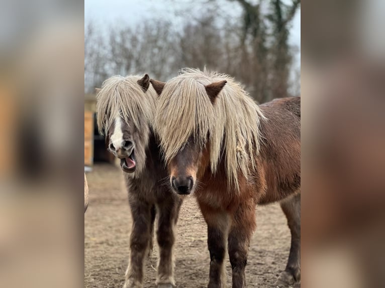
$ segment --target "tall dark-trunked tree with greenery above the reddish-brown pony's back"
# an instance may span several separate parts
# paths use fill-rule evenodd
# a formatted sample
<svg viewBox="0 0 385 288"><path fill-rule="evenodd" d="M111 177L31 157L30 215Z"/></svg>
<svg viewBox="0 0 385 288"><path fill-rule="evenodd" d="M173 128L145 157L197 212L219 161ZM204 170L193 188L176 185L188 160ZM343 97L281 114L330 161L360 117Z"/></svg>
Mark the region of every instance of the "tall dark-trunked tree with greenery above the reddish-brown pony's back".
<svg viewBox="0 0 385 288"><path fill-rule="evenodd" d="M231 1L239 3L243 9L239 50L241 79L251 87L258 102L287 96L292 69L289 26L300 1L295 0L287 6L280 0L271 0L268 14L261 11L264 1L255 4L246 0Z"/></svg>

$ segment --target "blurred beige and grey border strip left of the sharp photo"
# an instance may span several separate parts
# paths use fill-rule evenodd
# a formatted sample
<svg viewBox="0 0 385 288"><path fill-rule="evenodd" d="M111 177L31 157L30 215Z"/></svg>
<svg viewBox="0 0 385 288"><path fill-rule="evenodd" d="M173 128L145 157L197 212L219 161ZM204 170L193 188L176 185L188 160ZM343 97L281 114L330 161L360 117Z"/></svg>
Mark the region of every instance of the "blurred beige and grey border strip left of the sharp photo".
<svg viewBox="0 0 385 288"><path fill-rule="evenodd" d="M81 286L83 3L0 6L0 287Z"/></svg>

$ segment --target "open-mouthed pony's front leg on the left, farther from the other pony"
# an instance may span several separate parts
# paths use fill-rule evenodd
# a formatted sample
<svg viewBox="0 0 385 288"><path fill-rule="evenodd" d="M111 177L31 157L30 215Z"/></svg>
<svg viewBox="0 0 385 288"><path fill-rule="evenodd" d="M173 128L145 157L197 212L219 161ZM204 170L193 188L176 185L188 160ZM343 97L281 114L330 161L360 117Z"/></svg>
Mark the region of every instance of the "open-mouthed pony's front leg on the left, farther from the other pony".
<svg viewBox="0 0 385 288"><path fill-rule="evenodd" d="M151 205L135 197L129 197L129 203L133 224L130 237L130 261L124 288L140 288L143 282L144 259L151 238Z"/></svg>

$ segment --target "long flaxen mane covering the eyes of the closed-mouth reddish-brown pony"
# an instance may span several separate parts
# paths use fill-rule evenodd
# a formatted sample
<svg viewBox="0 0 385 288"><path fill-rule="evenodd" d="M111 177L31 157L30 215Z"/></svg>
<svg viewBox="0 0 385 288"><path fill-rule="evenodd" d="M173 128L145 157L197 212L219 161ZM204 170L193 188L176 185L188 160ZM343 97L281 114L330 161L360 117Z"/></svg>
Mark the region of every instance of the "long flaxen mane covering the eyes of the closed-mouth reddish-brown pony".
<svg viewBox="0 0 385 288"><path fill-rule="evenodd" d="M222 80L227 83L212 104L205 85ZM259 122L264 116L232 77L183 69L164 86L157 111L154 126L166 161L184 147L191 135L202 147L210 135L211 170L216 172L223 151L229 185L238 188L238 171L247 177L249 168L254 167L260 148Z"/></svg>

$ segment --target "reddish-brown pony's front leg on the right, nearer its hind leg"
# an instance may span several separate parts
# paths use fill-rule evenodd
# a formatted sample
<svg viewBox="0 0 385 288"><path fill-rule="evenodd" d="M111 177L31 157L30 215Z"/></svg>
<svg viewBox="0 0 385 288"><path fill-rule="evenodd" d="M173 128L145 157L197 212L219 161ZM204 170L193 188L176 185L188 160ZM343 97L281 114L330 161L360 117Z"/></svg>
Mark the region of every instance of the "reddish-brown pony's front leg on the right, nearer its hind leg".
<svg viewBox="0 0 385 288"><path fill-rule="evenodd" d="M245 267L255 221L255 207L250 202L240 204L233 215L228 238L233 288L246 287Z"/></svg>

